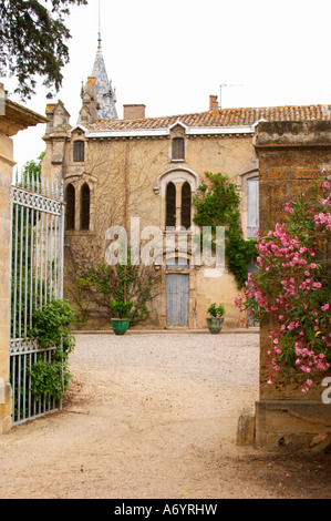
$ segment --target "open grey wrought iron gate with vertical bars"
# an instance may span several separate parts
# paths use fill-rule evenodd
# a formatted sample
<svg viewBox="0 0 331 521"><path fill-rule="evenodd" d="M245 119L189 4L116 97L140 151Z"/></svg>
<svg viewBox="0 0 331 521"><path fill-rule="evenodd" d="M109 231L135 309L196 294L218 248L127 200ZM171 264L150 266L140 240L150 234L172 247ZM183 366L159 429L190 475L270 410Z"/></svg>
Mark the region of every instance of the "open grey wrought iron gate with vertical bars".
<svg viewBox="0 0 331 521"><path fill-rule="evenodd" d="M34 309L63 297L63 184L24 178L12 184L10 382L12 423L22 423L61 408L54 399L31 391L30 371L50 360L56 347L41 349L29 338Z"/></svg>

